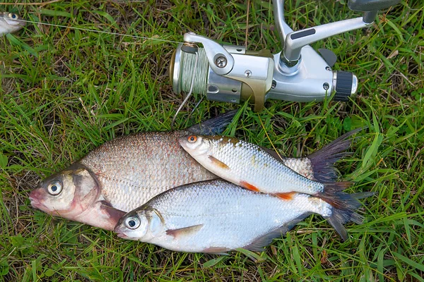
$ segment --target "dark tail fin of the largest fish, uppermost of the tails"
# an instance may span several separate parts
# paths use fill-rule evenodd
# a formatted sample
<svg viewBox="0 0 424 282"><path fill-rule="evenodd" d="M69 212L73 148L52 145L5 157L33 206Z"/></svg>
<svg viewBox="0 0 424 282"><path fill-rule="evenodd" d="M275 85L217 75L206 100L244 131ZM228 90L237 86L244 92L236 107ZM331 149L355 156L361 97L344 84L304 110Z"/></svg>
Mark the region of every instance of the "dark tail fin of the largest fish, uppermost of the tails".
<svg viewBox="0 0 424 282"><path fill-rule="evenodd" d="M348 133L341 135L341 137L338 137L329 145L326 145L322 149L319 149L317 152L307 156L307 158L311 161L312 171L314 171L314 178L317 181L324 183L337 179L334 163L347 154L351 154L348 152L343 152L352 144L352 140L349 139L349 137L355 133L358 133L358 131L362 129L363 128L357 128L355 130L351 130Z"/></svg>

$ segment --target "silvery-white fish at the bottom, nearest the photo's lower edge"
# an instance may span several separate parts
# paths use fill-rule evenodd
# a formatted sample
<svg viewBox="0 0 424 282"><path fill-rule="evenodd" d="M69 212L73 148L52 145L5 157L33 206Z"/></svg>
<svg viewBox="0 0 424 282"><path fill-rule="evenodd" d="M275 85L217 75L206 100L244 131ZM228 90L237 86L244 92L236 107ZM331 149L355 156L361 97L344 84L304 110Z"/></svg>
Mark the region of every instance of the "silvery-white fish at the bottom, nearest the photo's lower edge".
<svg viewBox="0 0 424 282"><path fill-rule="evenodd" d="M341 195L343 207L294 192L290 200L247 190L222 179L167 190L119 219L119 238L139 240L168 250L222 254L244 248L262 251L310 214L327 219L343 239L343 224L362 223L355 209L367 193Z"/></svg>

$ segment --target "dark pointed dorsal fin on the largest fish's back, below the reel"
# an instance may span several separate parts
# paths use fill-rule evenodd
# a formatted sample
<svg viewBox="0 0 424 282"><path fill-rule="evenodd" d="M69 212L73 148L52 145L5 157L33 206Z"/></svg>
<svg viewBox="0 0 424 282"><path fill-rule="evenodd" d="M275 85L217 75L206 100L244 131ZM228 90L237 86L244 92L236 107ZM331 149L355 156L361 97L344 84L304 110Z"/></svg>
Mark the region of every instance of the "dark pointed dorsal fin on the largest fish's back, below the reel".
<svg viewBox="0 0 424 282"><path fill-rule="evenodd" d="M238 110L228 111L225 114L216 116L215 118L210 118L207 121L203 121L199 124L193 125L188 128L191 133L197 135L218 135L223 133L227 125L229 125L237 114Z"/></svg>

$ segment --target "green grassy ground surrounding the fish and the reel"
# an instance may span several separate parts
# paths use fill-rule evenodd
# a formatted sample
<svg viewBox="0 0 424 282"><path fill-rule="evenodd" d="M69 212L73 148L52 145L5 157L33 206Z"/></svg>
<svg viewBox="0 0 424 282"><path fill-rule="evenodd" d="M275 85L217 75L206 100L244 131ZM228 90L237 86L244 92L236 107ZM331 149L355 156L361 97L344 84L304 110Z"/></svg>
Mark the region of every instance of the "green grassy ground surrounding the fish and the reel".
<svg viewBox="0 0 424 282"><path fill-rule="evenodd" d="M20 2L29 2L27 0ZM297 30L360 16L346 1L286 1ZM58 1L3 6L30 20L182 41L192 30L248 49L280 50L269 1ZM248 13L247 13L248 11ZM229 135L302 156L351 128L351 157L338 165L365 200L366 222L340 238L311 216L250 259L177 253L30 207L40 178L120 135L169 130L182 97L167 68L176 44L45 25L0 38L0 280L3 281L424 281L424 31L422 1L402 1L372 28L317 42L336 70L360 79L346 104L270 101L252 105L191 99L184 128L229 109ZM266 137L269 135L269 139Z"/></svg>

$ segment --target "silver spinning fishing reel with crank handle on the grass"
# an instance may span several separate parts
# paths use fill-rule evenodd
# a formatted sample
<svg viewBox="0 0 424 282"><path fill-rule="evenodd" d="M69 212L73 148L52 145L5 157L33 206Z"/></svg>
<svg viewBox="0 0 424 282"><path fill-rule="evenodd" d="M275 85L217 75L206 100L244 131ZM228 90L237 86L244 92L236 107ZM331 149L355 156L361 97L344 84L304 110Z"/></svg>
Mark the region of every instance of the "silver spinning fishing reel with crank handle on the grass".
<svg viewBox="0 0 424 282"><path fill-rule="evenodd" d="M261 111L267 99L322 101L335 92L336 101L348 101L358 89L358 78L348 71L333 71L337 59L333 51L319 49L318 54L309 44L367 27L379 10L400 0L349 0L348 7L364 12L363 17L298 31L285 23L283 2L273 0L273 16L283 47L277 54L220 45L194 32L184 34L184 44L179 44L171 60L174 92L205 94L209 100L237 104L250 99L254 111Z"/></svg>

